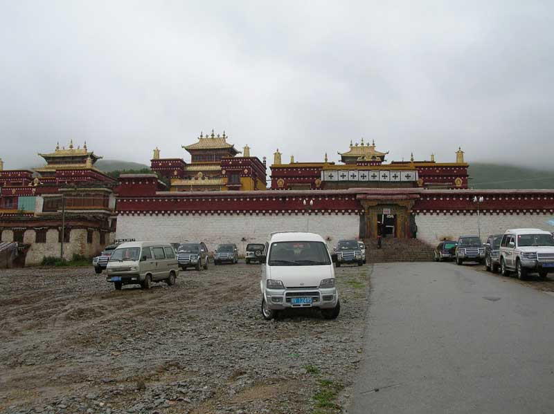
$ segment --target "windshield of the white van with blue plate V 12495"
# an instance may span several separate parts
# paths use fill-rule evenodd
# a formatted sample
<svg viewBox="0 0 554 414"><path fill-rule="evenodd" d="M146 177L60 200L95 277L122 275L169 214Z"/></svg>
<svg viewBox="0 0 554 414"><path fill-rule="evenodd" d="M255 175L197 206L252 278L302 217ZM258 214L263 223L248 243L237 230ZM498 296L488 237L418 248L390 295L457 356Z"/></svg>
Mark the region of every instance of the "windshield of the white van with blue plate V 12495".
<svg viewBox="0 0 554 414"><path fill-rule="evenodd" d="M319 241L283 241L271 244L270 266L330 265L331 259L325 243Z"/></svg>

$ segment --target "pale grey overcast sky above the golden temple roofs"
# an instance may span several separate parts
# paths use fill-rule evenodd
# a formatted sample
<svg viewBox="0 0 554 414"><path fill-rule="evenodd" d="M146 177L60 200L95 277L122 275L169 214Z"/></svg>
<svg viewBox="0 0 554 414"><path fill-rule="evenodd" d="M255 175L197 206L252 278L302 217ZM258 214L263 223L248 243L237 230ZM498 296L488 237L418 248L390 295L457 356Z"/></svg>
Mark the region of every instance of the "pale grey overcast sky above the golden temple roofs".
<svg viewBox="0 0 554 414"><path fill-rule="evenodd" d="M269 163L364 137L389 161L551 166L554 3L457 3L0 0L0 158L73 138L188 161L215 129Z"/></svg>

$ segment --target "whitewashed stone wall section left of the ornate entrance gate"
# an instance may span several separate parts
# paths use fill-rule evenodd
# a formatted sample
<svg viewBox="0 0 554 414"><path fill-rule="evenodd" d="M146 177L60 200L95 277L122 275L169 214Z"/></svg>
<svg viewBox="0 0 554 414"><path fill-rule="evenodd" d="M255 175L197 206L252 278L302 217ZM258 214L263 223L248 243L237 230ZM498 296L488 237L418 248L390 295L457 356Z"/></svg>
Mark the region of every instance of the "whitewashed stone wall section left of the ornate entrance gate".
<svg viewBox="0 0 554 414"><path fill-rule="evenodd" d="M204 241L213 251L220 243L236 243L240 254L248 243L264 242L271 232L305 232L307 216L118 216L116 238L137 241ZM309 218L310 232L334 247L341 238L358 238L359 216L317 215ZM242 238L245 240L242 241Z"/></svg>

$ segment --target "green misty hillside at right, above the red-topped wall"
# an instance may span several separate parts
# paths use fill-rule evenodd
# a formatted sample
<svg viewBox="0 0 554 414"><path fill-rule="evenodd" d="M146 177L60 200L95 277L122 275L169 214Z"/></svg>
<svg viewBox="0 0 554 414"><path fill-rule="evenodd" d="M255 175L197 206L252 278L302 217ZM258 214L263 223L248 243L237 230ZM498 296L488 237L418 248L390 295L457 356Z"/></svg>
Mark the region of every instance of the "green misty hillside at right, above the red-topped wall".
<svg viewBox="0 0 554 414"><path fill-rule="evenodd" d="M470 162L470 188L554 189L554 169Z"/></svg>

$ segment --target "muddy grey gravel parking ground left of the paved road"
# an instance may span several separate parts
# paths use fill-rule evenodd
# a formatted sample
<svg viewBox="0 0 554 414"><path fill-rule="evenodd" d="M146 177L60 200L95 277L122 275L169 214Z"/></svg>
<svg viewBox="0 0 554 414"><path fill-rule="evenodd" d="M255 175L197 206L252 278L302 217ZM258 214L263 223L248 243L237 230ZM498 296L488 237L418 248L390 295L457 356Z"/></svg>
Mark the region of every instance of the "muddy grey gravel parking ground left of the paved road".
<svg viewBox="0 0 554 414"><path fill-rule="evenodd" d="M341 314L264 321L258 265L116 291L91 267L0 271L2 413L339 413L361 359L370 265Z"/></svg>

